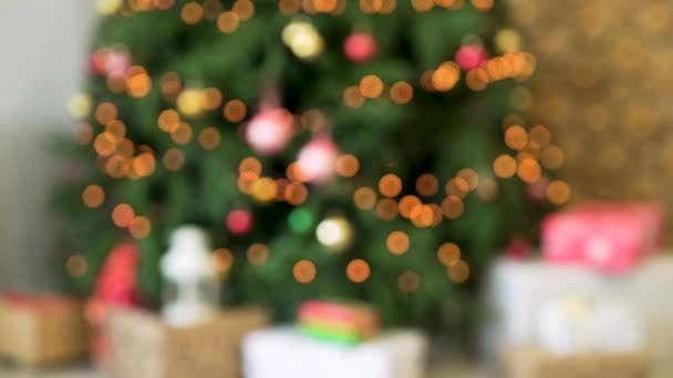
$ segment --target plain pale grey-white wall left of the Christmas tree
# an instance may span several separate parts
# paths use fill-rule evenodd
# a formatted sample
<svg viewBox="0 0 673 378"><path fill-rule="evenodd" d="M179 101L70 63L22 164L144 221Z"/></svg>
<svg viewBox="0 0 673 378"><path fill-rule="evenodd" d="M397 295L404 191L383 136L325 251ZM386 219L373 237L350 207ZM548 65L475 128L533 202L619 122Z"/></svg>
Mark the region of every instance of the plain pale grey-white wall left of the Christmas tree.
<svg viewBox="0 0 673 378"><path fill-rule="evenodd" d="M0 1L0 290L45 286L53 274L45 200L48 132L70 127L93 0Z"/></svg>

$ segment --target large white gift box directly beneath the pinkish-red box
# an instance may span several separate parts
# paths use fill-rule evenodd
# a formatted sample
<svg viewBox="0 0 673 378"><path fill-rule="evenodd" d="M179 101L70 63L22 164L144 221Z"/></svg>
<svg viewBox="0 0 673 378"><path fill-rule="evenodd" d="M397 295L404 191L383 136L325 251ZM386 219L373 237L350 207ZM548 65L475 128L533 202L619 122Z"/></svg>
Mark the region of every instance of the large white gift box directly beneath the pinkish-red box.
<svg viewBox="0 0 673 378"><path fill-rule="evenodd" d="M672 287L673 255L663 252L621 275L543 261L500 260L487 280L493 322L485 327L484 350L494 356L504 346L536 344L536 319L546 302L583 297L620 301L635 309L644 324L648 351L659 361L670 360Z"/></svg>

